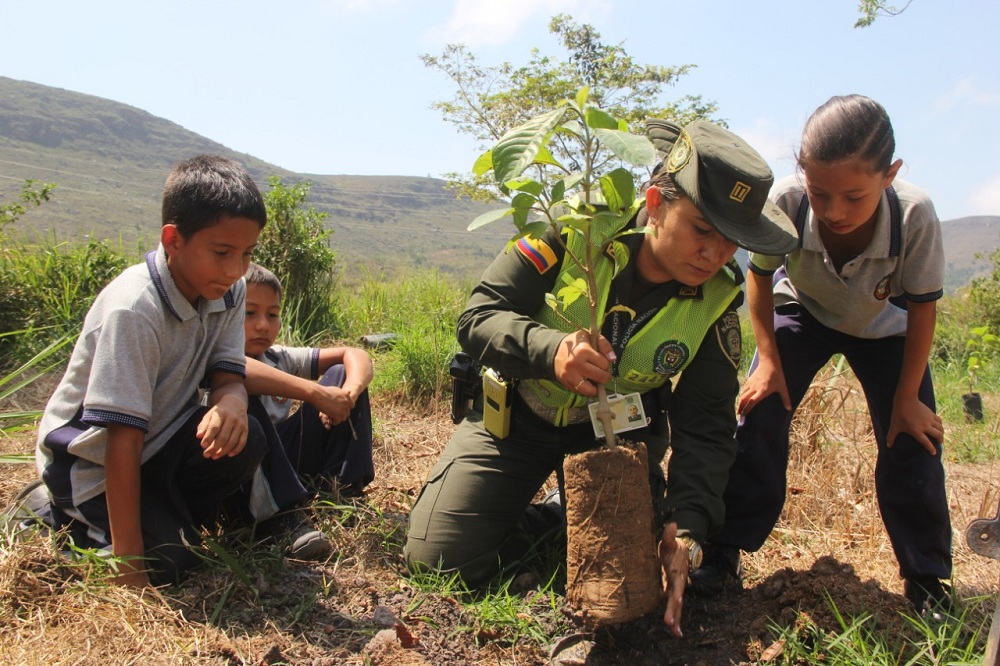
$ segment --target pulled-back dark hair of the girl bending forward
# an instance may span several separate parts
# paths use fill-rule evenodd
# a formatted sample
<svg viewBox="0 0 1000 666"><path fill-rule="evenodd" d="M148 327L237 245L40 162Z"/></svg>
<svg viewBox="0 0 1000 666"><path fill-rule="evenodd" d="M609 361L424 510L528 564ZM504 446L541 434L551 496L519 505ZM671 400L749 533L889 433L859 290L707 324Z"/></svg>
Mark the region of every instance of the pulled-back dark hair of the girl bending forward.
<svg viewBox="0 0 1000 666"><path fill-rule="evenodd" d="M896 138L885 108L864 95L831 97L813 111L802 130L798 162L831 164L856 158L884 173L892 164Z"/></svg>

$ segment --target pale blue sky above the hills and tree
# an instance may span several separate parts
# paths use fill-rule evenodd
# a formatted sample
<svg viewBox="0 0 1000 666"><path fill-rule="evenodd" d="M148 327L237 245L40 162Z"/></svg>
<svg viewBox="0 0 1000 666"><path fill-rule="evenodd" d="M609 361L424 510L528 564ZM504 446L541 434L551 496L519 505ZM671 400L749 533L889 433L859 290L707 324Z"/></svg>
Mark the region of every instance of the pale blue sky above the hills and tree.
<svg viewBox="0 0 1000 666"><path fill-rule="evenodd" d="M0 76L131 104L293 171L440 176L480 147L430 108L454 91L420 54L562 56L557 13L639 62L697 65L665 99L715 100L778 176L813 109L857 92L886 106L902 177L942 219L1000 215L995 0L912 0L866 29L855 0L8 1Z"/></svg>

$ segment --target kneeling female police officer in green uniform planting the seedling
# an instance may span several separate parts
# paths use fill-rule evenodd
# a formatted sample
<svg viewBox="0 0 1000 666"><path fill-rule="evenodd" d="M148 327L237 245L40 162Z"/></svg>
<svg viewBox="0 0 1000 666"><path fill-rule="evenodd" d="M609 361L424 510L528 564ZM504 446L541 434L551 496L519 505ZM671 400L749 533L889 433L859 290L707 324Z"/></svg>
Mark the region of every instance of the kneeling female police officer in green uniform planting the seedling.
<svg viewBox="0 0 1000 666"><path fill-rule="evenodd" d="M739 137L705 121L680 129L652 120L647 131L666 159L645 208L626 225L651 232L623 238L630 260L613 280L598 268L603 302L627 310L606 318L596 349L545 303L563 285L560 275L576 270L562 261L553 231L501 254L473 290L459 342L516 381L509 434L491 434L469 412L413 506L405 555L411 570L458 571L469 584L512 563L529 545L520 528L539 488L563 456L598 445L587 409L596 385L637 392L649 422L632 438L647 443L654 502L668 521L660 547L670 588L665 621L679 635L690 557L722 524L735 456L742 274L730 260L737 246L782 254L797 237L767 200L771 170Z"/></svg>

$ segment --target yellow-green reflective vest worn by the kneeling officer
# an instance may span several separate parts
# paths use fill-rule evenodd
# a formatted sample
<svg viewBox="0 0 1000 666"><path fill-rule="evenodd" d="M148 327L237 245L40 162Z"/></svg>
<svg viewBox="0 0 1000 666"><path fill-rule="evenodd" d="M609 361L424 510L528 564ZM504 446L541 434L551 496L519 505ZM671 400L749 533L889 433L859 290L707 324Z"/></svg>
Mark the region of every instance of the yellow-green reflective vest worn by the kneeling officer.
<svg viewBox="0 0 1000 666"><path fill-rule="evenodd" d="M571 252L583 256L584 239L581 234L568 234L566 242ZM634 260L633 257L631 261ZM607 311L613 269L614 261L609 251L601 252L595 270L598 312ZM574 280L584 278L583 271L564 257L552 289L557 300L557 292L566 286L567 276ZM645 393L670 381L691 362L709 327L722 316L739 291L727 268L720 270L700 288L682 288L680 294L671 298L628 339L624 351L618 353L618 377L611 386L622 394ZM578 298L561 314L579 327L571 326L548 305L542 306L532 319L567 333L589 328L590 312L586 297ZM630 316L624 312L620 314L620 319L627 326L631 322ZM589 400L549 379L526 379L521 384L522 390L531 391L542 404L555 411L554 425L557 426L567 425L569 410L583 407Z"/></svg>

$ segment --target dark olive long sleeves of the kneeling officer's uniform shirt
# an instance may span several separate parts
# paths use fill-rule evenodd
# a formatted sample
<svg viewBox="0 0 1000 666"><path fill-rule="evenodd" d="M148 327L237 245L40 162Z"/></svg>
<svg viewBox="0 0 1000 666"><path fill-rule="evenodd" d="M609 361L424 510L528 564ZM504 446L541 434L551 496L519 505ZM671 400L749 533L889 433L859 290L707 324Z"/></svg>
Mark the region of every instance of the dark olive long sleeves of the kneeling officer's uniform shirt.
<svg viewBox="0 0 1000 666"><path fill-rule="evenodd" d="M643 236L627 238L633 245L630 256L634 261ZM543 240L557 257L554 265L540 272L519 252L512 250L499 256L483 274L459 317L462 348L505 377L555 380L556 350L566 333L539 324L531 315L539 311L545 295L552 291L563 249L554 232ZM659 288L666 290L670 298L677 298L683 286L668 282ZM704 541L725 518L722 493L736 455L740 343L735 308L741 301L742 294L709 329L690 365L675 378L669 400L657 403L646 399L650 396L643 400L647 417L654 420L651 432L669 432L672 454L667 469L666 516L677 523L681 533L697 541ZM650 368L652 365L650 359ZM613 383L609 388L614 389ZM667 416L656 407L651 411L651 404L666 409Z"/></svg>

